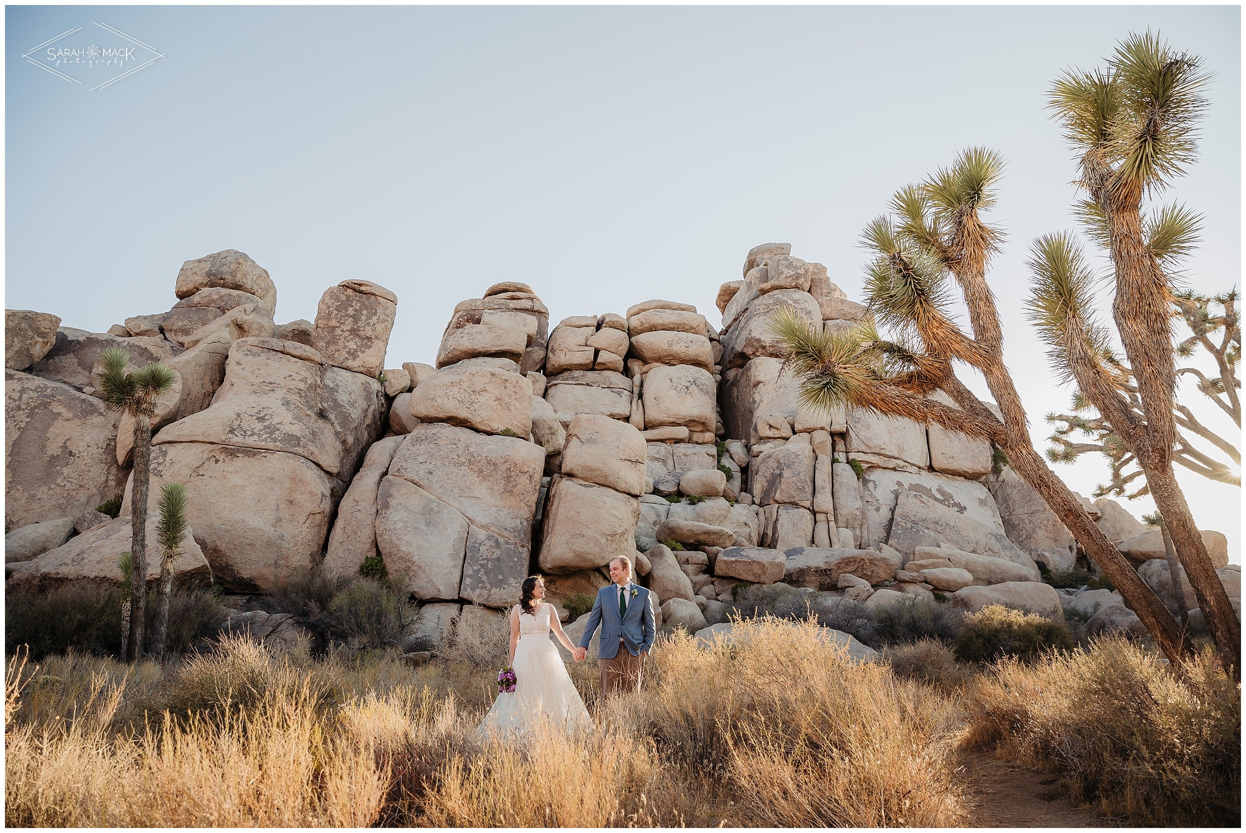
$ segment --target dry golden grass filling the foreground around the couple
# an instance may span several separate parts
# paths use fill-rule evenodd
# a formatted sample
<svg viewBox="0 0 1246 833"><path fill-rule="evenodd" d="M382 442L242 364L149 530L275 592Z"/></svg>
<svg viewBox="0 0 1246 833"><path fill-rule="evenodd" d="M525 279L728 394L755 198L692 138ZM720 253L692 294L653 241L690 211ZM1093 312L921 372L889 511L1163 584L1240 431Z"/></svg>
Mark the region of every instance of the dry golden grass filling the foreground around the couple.
<svg viewBox="0 0 1246 833"><path fill-rule="evenodd" d="M956 772L963 681L930 685L887 664L852 662L807 623L763 619L739 624L735 633L734 642L708 650L682 634L664 638L647 666L644 690L604 702L596 692L596 666L572 664L598 732L540 731L525 742L475 736L496 665L487 651L497 649L485 644L460 642L461 652L419 669L394 652L313 657L303 646L274 656L242 638L163 667L77 655L37 666L15 660L5 680L5 822L943 827L971 821ZM912 649L907 659L897 652L892 661L916 666L922 656L931 661L932 650ZM943 654L933 659L942 662ZM1206 669L1201 694L1191 694L1195 689L1172 682L1149 661L1099 646L1080 659L996 666L981 684L969 684L973 737L1053 766L1062 742L1090 752L1101 742L1085 726L1070 725L1077 700L1110 712L1125 692L1149 705L1123 708L1125 717L1110 715L1115 722L1098 712L1079 720L1124 731L1128 716L1149 715L1175 740L1172 748L1154 751L1144 776L1204 787L1207 776L1194 768L1219 758L1181 757L1176 746L1207 747L1207 738L1190 735L1191 721L1219 726L1231 699ZM1140 689L1120 687L1121 664L1124 679L1144 681ZM1100 667L1098 677L1093 666ZM1080 689L1074 676L1083 680ZM1093 699L1091 684L1100 686L1094 691L1116 691ZM1114 760L1109 751L1099 755ZM1138 777L1138 762L1130 766L1113 777Z"/></svg>

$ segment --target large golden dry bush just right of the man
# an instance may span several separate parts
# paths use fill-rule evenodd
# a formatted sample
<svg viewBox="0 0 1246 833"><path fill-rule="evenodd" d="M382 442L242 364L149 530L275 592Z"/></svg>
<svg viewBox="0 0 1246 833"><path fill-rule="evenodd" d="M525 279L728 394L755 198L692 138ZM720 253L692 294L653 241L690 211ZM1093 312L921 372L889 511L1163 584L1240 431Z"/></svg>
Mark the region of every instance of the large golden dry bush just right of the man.
<svg viewBox="0 0 1246 833"><path fill-rule="evenodd" d="M652 664L643 695L609 701L607 713L652 737L672 765L731 787L735 803L720 811L728 827L963 818L954 704L885 665L852 661L812 623L739 623L709 650L674 634Z"/></svg>

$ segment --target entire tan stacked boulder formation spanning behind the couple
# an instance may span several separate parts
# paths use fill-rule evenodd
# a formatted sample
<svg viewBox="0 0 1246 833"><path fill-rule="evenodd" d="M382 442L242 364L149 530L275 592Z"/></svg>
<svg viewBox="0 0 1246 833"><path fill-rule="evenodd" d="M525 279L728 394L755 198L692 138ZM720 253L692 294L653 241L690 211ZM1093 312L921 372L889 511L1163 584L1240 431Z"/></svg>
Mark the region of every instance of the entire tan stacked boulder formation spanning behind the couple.
<svg viewBox="0 0 1246 833"><path fill-rule="evenodd" d="M272 593L379 559L420 605L419 650L496 616L536 570L558 605L591 596L616 555L635 562L663 621L689 630L721 621L741 581L868 606L1077 609L1093 633L1139 628L1118 594L1039 581L1084 562L988 443L797 407L773 314L837 331L866 309L787 244L753 249L743 279L723 285L721 332L667 300L549 331L541 299L508 281L455 308L431 364L391 369L397 299L376 284L344 280L314 322L275 325L268 273L227 250L187 261L174 293L169 311L107 334L6 311L11 583L121 578L130 498L116 519L95 511L130 491L132 422L96 396L98 354L118 346L136 366L176 371L152 421L148 517L161 484L188 484L182 577ZM1166 594L1159 532L1113 501L1084 503ZM1225 537L1204 534L1240 598Z"/></svg>

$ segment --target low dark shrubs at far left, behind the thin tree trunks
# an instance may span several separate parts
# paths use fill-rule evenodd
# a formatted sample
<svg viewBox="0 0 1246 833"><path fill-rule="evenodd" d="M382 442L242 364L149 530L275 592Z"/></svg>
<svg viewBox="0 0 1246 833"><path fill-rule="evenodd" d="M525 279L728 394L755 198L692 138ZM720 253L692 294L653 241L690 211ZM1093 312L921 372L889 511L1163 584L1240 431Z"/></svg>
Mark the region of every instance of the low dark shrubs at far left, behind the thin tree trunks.
<svg viewBox="0 0 1246 833"><path fill-rule="evenodd" d="M121 654L121 593L96 583L70 583L46 593L5 591L5 652L29 646L30 659L75 650ZM156 589L147 593L146 629L156 623ZM173 590L169 596L166 650L201 647L227 618L219 596L207 589Z"/></svg>

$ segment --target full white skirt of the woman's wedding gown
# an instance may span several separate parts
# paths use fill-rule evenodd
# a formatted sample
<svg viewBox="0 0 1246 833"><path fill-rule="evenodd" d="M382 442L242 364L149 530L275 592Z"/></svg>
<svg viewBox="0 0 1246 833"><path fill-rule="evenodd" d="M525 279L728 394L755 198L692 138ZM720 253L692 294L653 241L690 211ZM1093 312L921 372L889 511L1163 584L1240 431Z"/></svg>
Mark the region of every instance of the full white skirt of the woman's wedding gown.
<svg viewBox="0 0 1246 833"><path fill-rule="evenodd" d="M477 733L522 733L538 723L567 732L594 731L593 718L548 636L521 636L512 667L515 691L497 695Z"/></svg>

